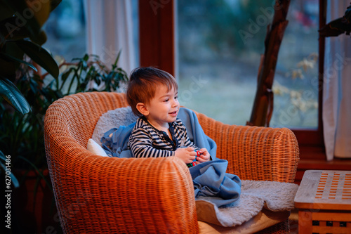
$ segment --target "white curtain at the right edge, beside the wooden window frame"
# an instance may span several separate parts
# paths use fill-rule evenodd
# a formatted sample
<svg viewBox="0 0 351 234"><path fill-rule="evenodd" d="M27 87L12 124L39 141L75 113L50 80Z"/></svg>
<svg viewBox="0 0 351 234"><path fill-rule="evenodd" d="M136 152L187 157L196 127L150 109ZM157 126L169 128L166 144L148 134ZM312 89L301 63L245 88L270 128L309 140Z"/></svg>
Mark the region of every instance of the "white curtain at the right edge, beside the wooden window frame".
<svg viewBox="0 0 351 234"><path fill-rule="evenodd" d="M328 0L326 22L345 14L350 0ZM326 159L351 158L351 37L327 37L324 59L323 128Z"/></svg>

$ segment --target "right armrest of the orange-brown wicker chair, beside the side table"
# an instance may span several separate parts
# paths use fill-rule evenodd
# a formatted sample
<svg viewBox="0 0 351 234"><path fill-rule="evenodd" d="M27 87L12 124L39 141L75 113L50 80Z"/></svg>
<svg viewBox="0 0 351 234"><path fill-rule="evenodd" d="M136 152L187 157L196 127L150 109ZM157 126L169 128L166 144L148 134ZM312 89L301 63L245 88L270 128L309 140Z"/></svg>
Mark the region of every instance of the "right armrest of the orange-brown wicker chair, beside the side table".
<svg viewBox="0 0 351 234"><path fill-rule="evenodd" d="M290 129L223 124L201 113L197 117L217 143L216 156L229 162L228 173L247 180L295 180L299 150Z"/></svg>

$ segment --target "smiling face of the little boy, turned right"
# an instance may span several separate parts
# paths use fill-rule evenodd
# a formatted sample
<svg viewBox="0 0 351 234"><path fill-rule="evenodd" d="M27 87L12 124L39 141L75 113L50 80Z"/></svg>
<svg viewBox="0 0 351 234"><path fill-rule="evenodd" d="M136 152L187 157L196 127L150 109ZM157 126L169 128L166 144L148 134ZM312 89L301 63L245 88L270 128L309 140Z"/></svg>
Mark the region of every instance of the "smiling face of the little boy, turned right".
<svg viewBox="0 0 351 234"><path fill-rule="evenodd" d="M167 87L161 85L156 90L154 98L145 106L148 114L145 117L150 124L159 130L168 129L168 123L176 121L178 115L180 106L178 90L173 88L167 91Z"/></svg>

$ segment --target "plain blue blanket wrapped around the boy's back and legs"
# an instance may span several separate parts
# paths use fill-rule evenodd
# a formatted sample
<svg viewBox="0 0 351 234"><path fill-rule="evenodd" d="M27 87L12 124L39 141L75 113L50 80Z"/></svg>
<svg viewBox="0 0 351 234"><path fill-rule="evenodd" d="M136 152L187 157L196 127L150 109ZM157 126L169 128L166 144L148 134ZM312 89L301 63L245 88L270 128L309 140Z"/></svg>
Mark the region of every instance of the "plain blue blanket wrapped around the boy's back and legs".
<svg viewBox="0 0 351 234"><path fill-rule="evenodd" d="M194 183L195 198L208 200L218 207L232 204L239 199L241 181L238 176L227 174L228 162L216 158L216 142L206 136L201 128L197 115L187 108L180 108L178 118L187 129L187 135L199 148L206 148L212 161L203 162L190 168ZM111 157L133 157L128 150L128 139L133 130L133 124L110 129L101 138L102 148Z"/></svg>

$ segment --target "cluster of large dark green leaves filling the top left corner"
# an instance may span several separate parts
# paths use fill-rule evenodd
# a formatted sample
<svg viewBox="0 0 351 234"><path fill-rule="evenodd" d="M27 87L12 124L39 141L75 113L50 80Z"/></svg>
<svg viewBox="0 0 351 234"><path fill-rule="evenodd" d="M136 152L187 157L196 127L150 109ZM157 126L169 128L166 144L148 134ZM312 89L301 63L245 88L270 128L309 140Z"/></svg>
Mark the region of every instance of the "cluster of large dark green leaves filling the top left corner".
<svg viewBox="0 0 351 234"><path fill-rule="evenodd" d="M41 27L60 2L0 0L0 96L22 114L30 111L29 104L11 81L18 79L15 70L21 63L37 70L32 63L23 59L23 54L58 78L57 63L39 45L46 41L46 34Z"/></svg>

